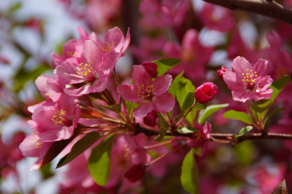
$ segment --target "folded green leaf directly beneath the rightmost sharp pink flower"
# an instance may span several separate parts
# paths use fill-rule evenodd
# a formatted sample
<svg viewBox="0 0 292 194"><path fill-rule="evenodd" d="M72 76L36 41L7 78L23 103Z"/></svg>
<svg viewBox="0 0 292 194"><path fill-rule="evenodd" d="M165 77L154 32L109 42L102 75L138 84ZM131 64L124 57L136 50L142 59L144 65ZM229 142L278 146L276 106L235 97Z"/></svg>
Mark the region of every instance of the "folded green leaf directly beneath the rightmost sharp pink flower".
<svg viewBox="0 0 292 194"><path fill-rule="evenodd" d="M258 102L252 103L250 106L251 112L256 115L259 120L265 118L265 115L272 105L273 99L261 99Z"/></svg>

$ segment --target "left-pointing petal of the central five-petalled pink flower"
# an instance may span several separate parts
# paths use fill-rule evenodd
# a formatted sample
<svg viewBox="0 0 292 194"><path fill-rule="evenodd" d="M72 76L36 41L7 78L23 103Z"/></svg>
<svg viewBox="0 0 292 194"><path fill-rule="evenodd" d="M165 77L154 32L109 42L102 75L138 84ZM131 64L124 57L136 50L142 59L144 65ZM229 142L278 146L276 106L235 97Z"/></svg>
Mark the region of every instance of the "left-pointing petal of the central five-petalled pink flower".
<svg viewBox="0 0 292 194"><path fill-rule="evenodd" d="M135 102L137 104L140 104L143 102L142 95L138 97L139 93L138 90L134 88L134 85L127 86L127 85L121 85L117 87L117 92L121 97L129 102ZM152 110L151 110L152 111Z"/></svg>

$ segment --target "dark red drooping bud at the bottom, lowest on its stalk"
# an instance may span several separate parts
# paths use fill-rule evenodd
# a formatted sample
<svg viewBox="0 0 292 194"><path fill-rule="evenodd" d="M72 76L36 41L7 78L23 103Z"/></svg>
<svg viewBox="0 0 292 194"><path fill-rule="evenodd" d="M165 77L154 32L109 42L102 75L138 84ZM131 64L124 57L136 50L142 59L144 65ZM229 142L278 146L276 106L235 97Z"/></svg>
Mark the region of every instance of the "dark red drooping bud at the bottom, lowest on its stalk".
<svg viewBox="0 0 292 194"><path fill-rule="evenodd" d="M138 180L141 180L146 171L146 165L145 164L137 164L129 168L127 172L125 172L124 177L128 179L131 183L135 183Z"/></svg>

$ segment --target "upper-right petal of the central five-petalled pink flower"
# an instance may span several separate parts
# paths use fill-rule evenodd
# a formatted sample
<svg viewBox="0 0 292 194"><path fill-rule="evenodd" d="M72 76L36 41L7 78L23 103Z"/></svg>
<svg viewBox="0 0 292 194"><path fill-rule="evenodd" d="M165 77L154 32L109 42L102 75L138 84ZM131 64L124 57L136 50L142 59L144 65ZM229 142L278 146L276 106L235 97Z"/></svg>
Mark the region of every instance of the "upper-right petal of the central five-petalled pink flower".
<svg viewBox="0 0 292 194"><path fill-rule="evenodd" d="M163 76L158 76L153 83L153 89L154 92L153 94L156 96L160 96L167 92L169 86L171 85L172 81L172 76L171 75L163 75Z"/></svg>

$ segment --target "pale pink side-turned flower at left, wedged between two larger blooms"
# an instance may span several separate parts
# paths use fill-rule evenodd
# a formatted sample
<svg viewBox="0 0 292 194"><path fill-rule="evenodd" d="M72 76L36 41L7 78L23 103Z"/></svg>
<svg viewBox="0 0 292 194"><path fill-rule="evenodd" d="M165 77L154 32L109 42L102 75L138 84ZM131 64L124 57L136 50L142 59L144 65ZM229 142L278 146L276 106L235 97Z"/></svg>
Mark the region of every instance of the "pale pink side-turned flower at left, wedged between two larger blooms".
<svg viewBox="0 0 292 194"><path fill-rule="evenodd" d="M55 106L59 97L63 93L62 83L48 75L39 76L35 83L42 97L44 97L46 100L39 104L29 106L27 108L28 111L33 113L34 109L41 106Z"/></svg>

